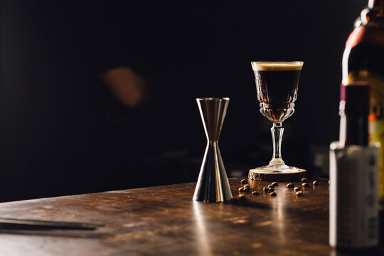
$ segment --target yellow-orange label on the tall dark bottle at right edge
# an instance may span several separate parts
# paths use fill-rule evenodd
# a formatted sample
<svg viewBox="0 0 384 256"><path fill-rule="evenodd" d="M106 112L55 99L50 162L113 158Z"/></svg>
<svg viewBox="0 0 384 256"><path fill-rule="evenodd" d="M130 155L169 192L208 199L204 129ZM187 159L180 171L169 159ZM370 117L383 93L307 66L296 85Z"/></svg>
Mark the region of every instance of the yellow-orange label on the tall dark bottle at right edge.
<svg viewBox="0 0 384 256"><path fill-rule="evenodd" d="M379 200L384 209L384 77L367 70L348 73L348 82L366 81L370 85L369 140L380 142Z"/></svg>

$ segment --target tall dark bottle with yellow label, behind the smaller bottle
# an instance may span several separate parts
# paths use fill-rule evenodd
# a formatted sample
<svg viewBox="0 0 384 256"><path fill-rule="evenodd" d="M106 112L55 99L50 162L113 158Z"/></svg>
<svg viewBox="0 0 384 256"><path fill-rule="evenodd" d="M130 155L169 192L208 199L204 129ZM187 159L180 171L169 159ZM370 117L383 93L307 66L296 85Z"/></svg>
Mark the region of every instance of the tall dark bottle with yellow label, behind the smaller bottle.
<svg viewBox="0 0 384 256"><path fill-rule="evenodd" d="M370 0L346 42L343 85L366 81L370 85L370 142L384 146L384 0ZM384 208L384 151L379 153L379 197Z"/></svg>

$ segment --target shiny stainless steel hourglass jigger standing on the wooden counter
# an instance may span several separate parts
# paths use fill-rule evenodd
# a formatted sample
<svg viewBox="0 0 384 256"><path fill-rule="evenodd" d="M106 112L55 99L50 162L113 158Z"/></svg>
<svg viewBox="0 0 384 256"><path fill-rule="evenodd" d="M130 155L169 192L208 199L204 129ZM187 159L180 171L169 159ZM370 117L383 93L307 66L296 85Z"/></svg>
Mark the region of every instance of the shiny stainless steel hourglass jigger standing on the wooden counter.
<svg viewBox="0 0 384 256"><path fill-rule="evenodd" d="M208 143L193 200L204 202L231 200L232 193L230 193L230 185L221 159L220 149L218 148L218 138L220 137L230 99L227 97L198 98L196 101Z"/></svg>

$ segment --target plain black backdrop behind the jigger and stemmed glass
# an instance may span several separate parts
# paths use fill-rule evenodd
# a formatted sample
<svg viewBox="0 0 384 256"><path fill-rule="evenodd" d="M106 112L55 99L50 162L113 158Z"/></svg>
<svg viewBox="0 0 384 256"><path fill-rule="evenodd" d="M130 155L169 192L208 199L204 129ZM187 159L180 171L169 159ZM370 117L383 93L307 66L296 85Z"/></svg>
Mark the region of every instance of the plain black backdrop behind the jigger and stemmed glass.
<svg viewBox="0 0 384 256"><path fill-rule="evenodd" d="M282 154L326 176L343 47L366 2L2 1L1 201L196 181L196 97L230 97L229 176L267 164L252 60L304 60ZM148 80L146 105L124 107L101 82L122 65Z"/></svg>

